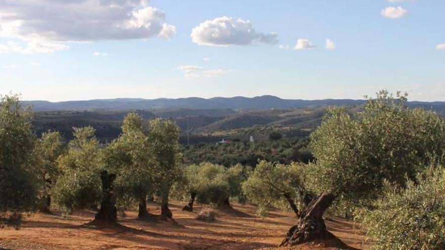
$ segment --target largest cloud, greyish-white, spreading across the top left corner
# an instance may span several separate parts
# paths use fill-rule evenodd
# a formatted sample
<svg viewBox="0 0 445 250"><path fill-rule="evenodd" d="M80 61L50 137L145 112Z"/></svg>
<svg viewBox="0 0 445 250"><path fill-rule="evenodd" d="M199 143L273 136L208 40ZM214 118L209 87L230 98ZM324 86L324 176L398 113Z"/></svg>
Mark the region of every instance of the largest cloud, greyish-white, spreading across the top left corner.
<svg viewBox="0 0 445 250"><path fill-rule="evenodd" d="M1 51L52 53L66 42L169 39L175 27L164 12L145 0L4 0L0 1L0 37L27 43Z"/></svg>

